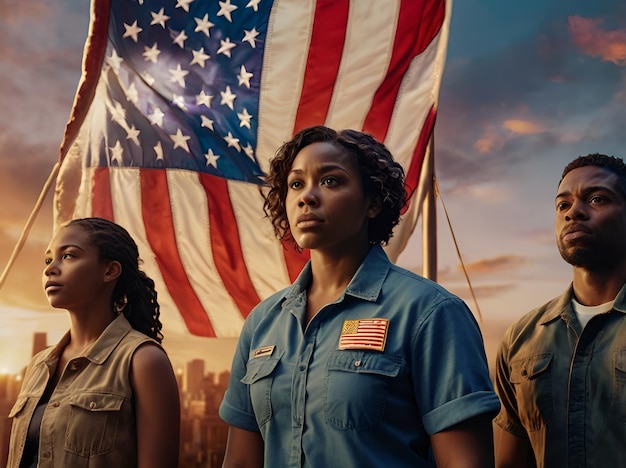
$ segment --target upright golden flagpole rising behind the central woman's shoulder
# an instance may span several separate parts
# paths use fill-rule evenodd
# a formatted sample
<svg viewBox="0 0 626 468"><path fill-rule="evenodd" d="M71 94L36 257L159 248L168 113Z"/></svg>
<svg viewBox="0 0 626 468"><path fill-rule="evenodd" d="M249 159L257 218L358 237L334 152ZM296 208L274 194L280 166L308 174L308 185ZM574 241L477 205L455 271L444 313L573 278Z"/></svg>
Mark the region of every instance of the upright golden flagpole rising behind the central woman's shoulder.
<svg viewBox="0 0 626 468"><path fill-rule="evenodd" d="M429 183L422 204L422 276L437 281L437 212L435 192L434 136L426 149L423 170Z"/></svg>

